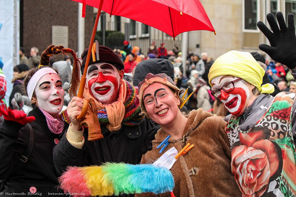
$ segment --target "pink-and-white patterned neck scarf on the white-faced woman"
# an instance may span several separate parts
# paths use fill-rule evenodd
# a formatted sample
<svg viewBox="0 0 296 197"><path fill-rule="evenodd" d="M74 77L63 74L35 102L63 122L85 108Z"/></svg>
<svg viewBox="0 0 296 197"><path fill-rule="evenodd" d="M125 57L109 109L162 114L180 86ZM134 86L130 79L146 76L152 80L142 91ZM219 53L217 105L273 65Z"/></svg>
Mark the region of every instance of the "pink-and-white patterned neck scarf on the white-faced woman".
<svg viewBox="0 0 296 197"><path fill-rule="evenodd" d="M62 120L61 115L57 115L57 118L52 117L49 113L39 108L46 118L46 123L50 132L54 134L60 134L63 132L65 122Z"/></svg>

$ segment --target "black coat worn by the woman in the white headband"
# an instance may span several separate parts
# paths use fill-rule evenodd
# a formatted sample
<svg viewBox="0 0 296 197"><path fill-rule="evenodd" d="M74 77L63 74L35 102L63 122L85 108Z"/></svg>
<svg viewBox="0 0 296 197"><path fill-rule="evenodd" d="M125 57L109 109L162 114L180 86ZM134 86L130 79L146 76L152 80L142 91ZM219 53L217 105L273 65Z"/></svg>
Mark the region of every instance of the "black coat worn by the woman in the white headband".
<svg viewBox="0 0 296 197"><path fill-rule="evenodd" d="M30 123L34 132L34 144L27 163L21 162L20 156L28 148L30 130L12 121L4 121L0 128L0 179L5 183L4 196L6 194L11 197L11 193L15 193L12 196L27 196L31 187L35 187L36 194L41 196L58 192L58 174L52 161L52 149L56 146L55 139L60 139L63 133L54 134L49 131L45 116L38 107L30 111L28 116L34 116L36 120ZM66 123L64 131L68 127Z"/></svg>

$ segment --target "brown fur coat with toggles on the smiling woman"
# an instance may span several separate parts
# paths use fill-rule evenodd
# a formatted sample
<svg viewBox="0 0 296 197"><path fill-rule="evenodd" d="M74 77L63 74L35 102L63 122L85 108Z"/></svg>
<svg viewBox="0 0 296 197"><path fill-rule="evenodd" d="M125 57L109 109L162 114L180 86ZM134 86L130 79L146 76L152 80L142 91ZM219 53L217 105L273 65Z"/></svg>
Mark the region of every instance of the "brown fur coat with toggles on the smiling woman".
<svg viewBox="0 0 296 197"><path fill-rule="evenodd" d="M142 157L141 163L153 163L173 146L181 151L189 142L194 147L185 156L180 156L171 168L175 179L175 196L241 197L230 169L230 146L224 131L226 123L202 109L192 110L187 118L183 138L169 140L169 145L160 154L160 148L156 149L156 146L168 135L160 129L152 141L152 150ZM158 195L149 193L135 197L155 196ZM160 194L159 197L170 197L170 193Z"/></svg>

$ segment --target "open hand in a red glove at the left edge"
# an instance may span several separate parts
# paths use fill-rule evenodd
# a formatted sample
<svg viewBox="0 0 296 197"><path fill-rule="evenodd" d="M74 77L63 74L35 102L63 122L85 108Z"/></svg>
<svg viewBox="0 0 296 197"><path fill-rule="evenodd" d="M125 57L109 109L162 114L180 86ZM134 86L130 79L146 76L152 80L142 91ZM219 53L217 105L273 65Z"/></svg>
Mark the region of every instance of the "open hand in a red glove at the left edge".
<svg viewBox="0 0 296 197"><path fill-rule="evenodd" d="M27 123L31 123L31 122L35 121L34 116L27 117L27 114L25 114L24 111L11 109L10 107L8 107L7 111L0 109L0 112L3 115L4 120L17 122L22 125L26 125Z"/></svg>

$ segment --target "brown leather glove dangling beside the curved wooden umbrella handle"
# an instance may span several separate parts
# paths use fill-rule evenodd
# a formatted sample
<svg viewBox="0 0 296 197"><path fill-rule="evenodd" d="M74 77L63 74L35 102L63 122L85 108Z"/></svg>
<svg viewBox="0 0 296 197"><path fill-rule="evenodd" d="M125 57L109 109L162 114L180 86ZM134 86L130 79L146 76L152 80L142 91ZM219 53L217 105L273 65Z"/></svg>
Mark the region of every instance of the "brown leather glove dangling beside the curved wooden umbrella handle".
<svg viewBox="0 0 296 197"><path fill-rule="evenodd" d="M101 127L98 120L98 107L93 99L89 99L90 107L87 110L85 119L81 122L82 125L88 127L88 141L95 141L104 138L101 133Z"/></svg>

